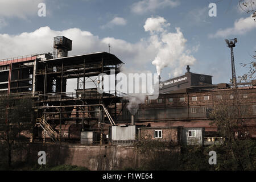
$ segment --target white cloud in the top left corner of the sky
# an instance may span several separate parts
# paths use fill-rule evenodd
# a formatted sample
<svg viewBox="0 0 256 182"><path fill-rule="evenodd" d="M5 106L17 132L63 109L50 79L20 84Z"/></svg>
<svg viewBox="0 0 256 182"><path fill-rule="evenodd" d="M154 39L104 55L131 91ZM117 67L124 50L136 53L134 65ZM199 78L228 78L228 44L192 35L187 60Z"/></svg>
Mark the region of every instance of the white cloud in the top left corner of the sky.
<svg viewBox="0 0 256 182"><path fill-rule="evenodd" d="M2 18L23 18L37 16L38 4L46 0L1 0L0 16Z"/></svg>

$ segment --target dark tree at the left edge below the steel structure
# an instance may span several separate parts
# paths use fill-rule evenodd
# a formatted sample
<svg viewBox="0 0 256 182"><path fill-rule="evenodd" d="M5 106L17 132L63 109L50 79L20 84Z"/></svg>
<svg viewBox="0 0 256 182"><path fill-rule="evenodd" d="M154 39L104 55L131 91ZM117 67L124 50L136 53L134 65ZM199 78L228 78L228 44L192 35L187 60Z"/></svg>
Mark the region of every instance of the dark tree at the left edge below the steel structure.
<svg viewBox="0 0 256 182"><path fill-rule="evenodd" d="M30 98L0 96L0 144L2 152L7 153L9 167L12 163L12 154L26 147L30 140L32 114Z"/></svg>

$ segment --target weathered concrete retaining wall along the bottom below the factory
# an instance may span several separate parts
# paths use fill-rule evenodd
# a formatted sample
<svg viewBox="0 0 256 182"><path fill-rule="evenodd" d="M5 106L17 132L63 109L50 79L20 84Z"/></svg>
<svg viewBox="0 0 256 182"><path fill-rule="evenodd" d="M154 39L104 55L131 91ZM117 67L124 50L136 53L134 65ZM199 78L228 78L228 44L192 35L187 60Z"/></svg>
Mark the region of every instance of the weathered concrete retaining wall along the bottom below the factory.
<svg viewBox="0 0 256 182"><path fill-rule="evenodd" d="M38 152L46 152L46 164L56 166L70 164L90 170L122 170L139 168L143 157L133 146L79 146L79 145L42 145L30 144L23 151L16 152L13 161L38 164ZM180 148L173 149L180 152ZM39 164L38 164L39 165Z"/></svg>

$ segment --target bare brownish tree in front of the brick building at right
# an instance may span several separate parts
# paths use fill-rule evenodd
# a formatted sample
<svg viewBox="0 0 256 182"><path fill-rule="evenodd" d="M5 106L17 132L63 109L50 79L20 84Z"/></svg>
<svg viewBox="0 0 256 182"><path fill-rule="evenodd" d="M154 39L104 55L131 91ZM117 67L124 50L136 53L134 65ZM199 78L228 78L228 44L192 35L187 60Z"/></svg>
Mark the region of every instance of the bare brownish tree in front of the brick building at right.
<svg viewBox="0 0 256 182"><path fill-rule="evenodd" d="M232 89L222 95L222 100L214 105L210 117L212 124L217 126L217 130L225 138L224 147L238 169L254 169L253 159L255 156L250 152L250 126L246 118L251 114L250 107L246 100L242 99L242 92Z"/></svg>

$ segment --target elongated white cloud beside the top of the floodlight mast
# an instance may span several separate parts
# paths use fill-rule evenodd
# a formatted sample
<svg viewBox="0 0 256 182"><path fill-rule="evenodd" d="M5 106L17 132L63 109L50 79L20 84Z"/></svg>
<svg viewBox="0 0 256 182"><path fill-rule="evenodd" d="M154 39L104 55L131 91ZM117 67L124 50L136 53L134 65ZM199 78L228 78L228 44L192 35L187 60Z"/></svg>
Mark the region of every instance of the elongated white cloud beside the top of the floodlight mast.
<svg viewBox="0 0 256 182"><path fill-rule="evenodd" d="M226 38L230 35L243 35L256 28L256 22L250 15L247 18L240 18L234 22L234 27L218 30L215 34L210 34L209 38Z"/></svg>

